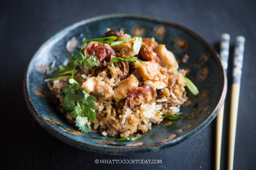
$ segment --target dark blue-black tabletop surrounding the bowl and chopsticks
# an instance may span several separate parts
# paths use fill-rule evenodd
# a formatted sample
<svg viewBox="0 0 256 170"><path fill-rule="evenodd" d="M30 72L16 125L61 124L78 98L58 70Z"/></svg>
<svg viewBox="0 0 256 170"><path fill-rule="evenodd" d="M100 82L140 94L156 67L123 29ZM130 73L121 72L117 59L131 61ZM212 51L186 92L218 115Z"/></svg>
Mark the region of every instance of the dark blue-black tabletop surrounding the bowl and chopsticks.
<svg viewBox="0 0 256 170"><path fill-rule="evenodd" d="M195 31L216 50L221 33L246 38L239 99L234 169L256 167L256 4L255 1L0 1L1 167L4 169L214 169L215 120L185 143L154 154L109 156L69 146L47 133L32 117L22 80L35 51L49 37L80 20L109 13L135 13L177 22ZM232 66L230 59L229 66ZM231 68L231 67L230 67ZM230 88L229 68L228 80ZM227 168L230 89L223 124L221 169ZM161 159L161 164L96 164L95 159Z"/></svg>

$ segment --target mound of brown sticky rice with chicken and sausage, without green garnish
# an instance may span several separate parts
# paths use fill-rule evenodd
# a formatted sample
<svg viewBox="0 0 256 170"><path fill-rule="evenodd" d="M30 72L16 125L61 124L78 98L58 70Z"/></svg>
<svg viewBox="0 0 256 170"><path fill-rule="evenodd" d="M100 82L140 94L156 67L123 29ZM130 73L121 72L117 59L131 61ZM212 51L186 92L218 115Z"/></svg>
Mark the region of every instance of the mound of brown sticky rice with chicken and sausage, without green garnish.
<svg viewBox="0 0 256 170"><path fill-rule="evenodd" d="M117 40L127 37L123 31L109 29L104 35L115 35ZM102 135L139 137L151 130L152 123L163 121L163 113L179 115L180 106L187 100L186 71L178 69L173 53L154 38L142 41L138 55L133 50L134 38L113 47L109 46L112 42L90 42L83 51L85 58L95 55L100 65L92 70L80 66L74 79L96 97L96 119L87 123ZM142 62L112 62L113 57L136 58ZM55 80L52 91L61 91L65 84L68 82ZM60 101L59 111L74 123L74 117L62 109L60 93L53 94Z"/></svg>

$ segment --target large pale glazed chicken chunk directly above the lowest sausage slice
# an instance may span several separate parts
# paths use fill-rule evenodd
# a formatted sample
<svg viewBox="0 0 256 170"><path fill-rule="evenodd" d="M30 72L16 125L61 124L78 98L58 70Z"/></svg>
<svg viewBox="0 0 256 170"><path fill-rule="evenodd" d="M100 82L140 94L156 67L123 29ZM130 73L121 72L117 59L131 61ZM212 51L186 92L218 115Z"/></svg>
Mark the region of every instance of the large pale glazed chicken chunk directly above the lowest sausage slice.
<svg viewBox="0 0 256 170"><path fill-rule="evenodd" d="M156 89L162 89L168 86L168 76L161 73L161 66L155 60L147 62L134 62L134 75L143 81L143 84L149 84Z"/></svg>

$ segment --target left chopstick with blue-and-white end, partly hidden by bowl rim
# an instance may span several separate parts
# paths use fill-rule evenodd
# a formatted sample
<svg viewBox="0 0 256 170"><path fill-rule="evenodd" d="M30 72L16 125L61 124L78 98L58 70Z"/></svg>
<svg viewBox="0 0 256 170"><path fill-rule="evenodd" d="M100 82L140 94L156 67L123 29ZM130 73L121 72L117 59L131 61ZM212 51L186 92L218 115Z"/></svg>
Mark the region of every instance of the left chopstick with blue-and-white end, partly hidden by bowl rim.
<svg viewBox="0 0 256 170"><path fill-rule="evenodd" d="M229 54L229 42L230 35L224 33L221 35L221 44L220 44L220 57L221 62L224 68L225 73L227 73L228 69L228 54ZM223 128L223 114L224 114L224 103L219 111L216 119L217 119L217 127L216 127L216 146L215 146L215 170L220 169L221 165L221 138L222 138L222 128Z"/></svg>

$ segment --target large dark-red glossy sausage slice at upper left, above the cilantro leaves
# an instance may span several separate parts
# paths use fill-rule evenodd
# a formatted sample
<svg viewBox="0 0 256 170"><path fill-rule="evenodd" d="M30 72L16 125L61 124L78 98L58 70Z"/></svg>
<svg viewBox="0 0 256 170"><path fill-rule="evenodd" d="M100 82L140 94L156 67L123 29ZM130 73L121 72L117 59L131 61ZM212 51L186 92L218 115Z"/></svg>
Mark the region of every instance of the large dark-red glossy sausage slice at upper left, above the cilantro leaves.
<svg viewBox="0 0 256 170"><path fill-rule="evenodd" d="M112 55L117 57L115 51L108 44L101 42L89 42L83 53L85 58L89 58L92 55L96 56L96 60L99 61L99 67L103 66L104 61L109 62Z"/></svg>

